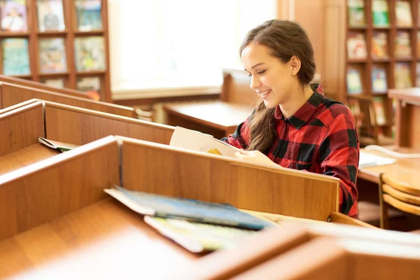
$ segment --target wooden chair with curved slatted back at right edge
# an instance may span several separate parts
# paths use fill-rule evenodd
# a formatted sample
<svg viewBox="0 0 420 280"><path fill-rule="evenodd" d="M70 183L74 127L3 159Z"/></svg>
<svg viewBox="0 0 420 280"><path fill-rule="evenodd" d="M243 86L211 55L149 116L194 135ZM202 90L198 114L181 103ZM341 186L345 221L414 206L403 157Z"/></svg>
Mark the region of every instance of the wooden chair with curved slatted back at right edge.
<svg viewBox="0 0 420 280"><path fill-rule="evenodd" d="M380 228L387 229L388 205L420 216L420 189L404 182L391 181L386 175L379 175L379 218Z"/></svg>

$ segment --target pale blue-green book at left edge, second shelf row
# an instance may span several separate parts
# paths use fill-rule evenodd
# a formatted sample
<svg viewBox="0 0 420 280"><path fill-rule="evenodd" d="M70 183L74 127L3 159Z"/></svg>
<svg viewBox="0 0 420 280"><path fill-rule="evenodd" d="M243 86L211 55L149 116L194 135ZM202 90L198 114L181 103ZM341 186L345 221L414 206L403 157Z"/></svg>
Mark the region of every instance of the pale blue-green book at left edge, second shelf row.
<svg viewBox="0 0 420 280"><path fill-rule="evenodd" d="M3 74L10 76L30 75L27 38L5 38L3 48Z"/></svg>

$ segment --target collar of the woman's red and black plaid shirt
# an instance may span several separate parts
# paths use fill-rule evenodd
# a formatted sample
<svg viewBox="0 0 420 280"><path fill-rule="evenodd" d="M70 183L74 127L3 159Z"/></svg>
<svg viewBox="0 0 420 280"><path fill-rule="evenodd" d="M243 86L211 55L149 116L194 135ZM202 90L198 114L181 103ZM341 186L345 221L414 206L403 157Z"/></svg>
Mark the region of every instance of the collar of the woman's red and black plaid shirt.
<svg viewBox="0 0 420 280"><path fill-rule="evenodd" d="M292 116L284 119L283 113L281 113L280 106L276 106L276 111L274 112L274 118L276 120L284 120L286 123L291 123L297 130L300 130L314 115L315 110L318 108L319 104L322 102L323 95L318 93L317 90L314 90L314 93L309 97L308 101L300 107Z"/></svg>

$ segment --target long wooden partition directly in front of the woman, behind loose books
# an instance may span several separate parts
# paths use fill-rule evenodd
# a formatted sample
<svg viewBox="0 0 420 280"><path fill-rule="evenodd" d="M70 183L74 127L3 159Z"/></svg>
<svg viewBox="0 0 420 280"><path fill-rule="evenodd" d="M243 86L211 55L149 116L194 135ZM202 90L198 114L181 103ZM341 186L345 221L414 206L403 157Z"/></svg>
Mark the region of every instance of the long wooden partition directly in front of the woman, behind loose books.
<svg viewBox="0 0 420 280"><path fill-rule="evenodd" d="M318 221L338 210L331 176L120 139L125 188Z"/></svg>

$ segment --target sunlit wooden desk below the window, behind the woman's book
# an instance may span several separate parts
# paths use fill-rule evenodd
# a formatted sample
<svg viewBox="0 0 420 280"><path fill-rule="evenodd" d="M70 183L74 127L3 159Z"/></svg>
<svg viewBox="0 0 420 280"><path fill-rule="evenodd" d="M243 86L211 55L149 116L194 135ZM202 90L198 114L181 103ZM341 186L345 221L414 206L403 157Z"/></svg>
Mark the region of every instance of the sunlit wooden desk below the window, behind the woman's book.
<svg viewBox="0 0 420 280"><path fill-rule="evenodd" d="M253 111L252 106L221 101L165 104L167 124L198 130L221 139L235 132Z"/></svg>

